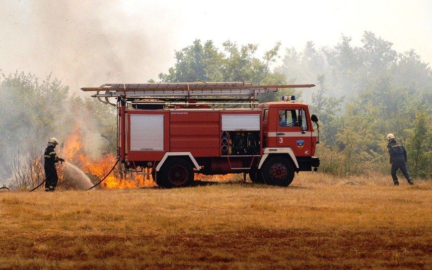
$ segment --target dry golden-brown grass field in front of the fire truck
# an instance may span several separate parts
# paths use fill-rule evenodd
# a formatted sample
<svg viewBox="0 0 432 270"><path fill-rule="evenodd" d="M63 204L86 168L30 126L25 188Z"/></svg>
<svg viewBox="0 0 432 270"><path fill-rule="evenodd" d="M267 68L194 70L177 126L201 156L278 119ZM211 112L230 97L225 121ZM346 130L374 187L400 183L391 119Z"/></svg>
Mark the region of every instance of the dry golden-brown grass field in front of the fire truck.
<svg viewBox="0 0 432 270"><path fill-rule="evenodd" d="M431 269L432 182L1 192L0 269Z"/></svg>

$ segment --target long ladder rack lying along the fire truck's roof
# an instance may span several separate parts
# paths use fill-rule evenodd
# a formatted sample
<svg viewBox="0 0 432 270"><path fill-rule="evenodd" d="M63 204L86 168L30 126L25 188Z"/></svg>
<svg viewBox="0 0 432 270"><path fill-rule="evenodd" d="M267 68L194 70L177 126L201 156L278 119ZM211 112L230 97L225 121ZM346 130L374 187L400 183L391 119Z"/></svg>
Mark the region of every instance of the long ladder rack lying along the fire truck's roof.
<svg viewBox="0 0 432 270"><path fill-rule="evenodd" d="M230 101L255 104L258 94L278 91L278 88L313 87L314 84L288 84L288 85L252 85L245 82L180 82L180 83L107 83L99 87L84 87L82 91L96 92L97 97L105 104L111 103L108 98L122 97L127 101L139 99L152 99L160 101ZM211 97L218 98L211 98ZM103 101L101 98L104 98ZM185 103L183 103L185 104ZM187 103L186 103L187 104ZM216 103L212 103L216 104Z"/></svg>

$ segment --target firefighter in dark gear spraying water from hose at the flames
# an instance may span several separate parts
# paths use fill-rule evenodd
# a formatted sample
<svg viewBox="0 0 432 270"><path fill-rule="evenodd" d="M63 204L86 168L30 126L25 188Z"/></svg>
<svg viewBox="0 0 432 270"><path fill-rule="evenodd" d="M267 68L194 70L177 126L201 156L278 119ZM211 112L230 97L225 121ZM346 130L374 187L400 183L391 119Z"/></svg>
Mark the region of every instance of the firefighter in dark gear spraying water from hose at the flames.
<svg viewBox="0 0 432 270"><path fill-rule="evenodd" d="M59 161L65 161L63 158L57 157L54 148L59 144L56 138L48 140L47 148L44 153L44 169L45 169L45 191L54 191L59 181L55 164Z"/></svg>

